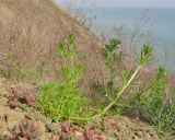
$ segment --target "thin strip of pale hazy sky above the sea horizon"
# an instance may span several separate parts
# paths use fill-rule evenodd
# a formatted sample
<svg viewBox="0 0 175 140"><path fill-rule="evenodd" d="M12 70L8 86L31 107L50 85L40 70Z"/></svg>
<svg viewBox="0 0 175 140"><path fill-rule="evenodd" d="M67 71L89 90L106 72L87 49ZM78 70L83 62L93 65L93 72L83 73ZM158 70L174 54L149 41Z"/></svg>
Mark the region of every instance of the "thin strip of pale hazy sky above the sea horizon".
<svg viewBox="0 0 175 140"><path fill-rule="evenodd" d="M175 0L56 0L58 3L71 1L83 7L126 7L126 8L175 8Z"/></svg>

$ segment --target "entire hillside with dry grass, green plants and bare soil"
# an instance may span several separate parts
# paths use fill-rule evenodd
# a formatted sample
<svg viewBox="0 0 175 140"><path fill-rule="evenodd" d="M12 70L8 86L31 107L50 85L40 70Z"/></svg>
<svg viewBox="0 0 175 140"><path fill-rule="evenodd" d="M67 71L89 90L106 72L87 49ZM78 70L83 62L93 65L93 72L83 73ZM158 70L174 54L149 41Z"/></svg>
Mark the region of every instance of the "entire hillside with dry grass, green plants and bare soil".
<svg viewBox="0 0 175 140"><path fill-rule="evenodd" d="M174 140L174 75L103 39L52 0L0 0L0 140Z"/></svg>

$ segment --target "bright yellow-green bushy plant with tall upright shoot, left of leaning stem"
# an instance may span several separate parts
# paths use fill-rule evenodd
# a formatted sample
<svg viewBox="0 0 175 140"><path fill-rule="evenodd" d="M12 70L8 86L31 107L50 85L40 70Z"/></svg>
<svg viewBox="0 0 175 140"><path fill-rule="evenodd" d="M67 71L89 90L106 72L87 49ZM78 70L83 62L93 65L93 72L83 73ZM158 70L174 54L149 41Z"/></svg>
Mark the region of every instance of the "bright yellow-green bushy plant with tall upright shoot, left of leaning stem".
<svg viewBox="0 0 175 140"><path fill-rule="evenodd" d="M74 45L75 36L57 44L57 56L61 61L58 69L59 81L44 83L38 96L38 108L47 117L59 121L71 117L86 117L90 113L85 92L79 89L83 78L84 60Z"/></svg>

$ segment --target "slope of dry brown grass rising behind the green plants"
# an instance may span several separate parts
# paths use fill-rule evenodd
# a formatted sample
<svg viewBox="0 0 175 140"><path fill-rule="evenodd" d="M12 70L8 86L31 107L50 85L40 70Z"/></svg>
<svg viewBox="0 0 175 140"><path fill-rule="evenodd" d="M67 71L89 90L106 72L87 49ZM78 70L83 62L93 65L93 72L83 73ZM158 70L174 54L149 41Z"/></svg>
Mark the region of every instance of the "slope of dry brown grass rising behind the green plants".
<svg viewBox="0 0 175 140"><path fill-rule="evenodd" d="M23 68L30 65L37 69L45 65L55 77L59 67L56 43L73 33L80 51L89 58L83 85L91 79L101 79L98 48L102 45L97 37L51 0L1 0L0 31L0 66L11 74L15 70L8 66L9 56Z"/></svg>

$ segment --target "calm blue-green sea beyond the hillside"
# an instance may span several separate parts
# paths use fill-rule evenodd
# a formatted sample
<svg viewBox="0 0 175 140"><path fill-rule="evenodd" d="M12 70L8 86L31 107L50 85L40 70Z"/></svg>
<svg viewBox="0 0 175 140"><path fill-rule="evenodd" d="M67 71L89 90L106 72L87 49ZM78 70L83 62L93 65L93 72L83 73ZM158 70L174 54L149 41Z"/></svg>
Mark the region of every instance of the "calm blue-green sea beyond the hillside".
<svg viewBox="0 0 175 140"><path fill-rule="evenodd" d="M74 14L96 35L135 38L137 47L151 43L155 63L175 71L175 9L81 8Z"/></svg>

